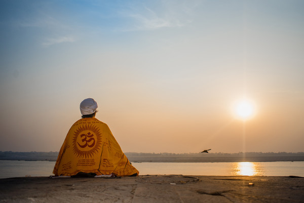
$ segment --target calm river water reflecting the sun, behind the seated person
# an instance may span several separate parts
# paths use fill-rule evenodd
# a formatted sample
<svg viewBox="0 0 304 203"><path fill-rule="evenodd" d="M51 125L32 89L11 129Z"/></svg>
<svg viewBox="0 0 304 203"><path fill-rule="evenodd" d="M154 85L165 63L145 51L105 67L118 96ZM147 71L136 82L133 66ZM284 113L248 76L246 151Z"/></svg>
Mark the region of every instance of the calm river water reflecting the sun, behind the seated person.
<svg viewBox="0 0 304 203"><path fill-rule="evenodd" d="M140 175L304 177L304 161L132 164ZM55 161L0 160L0 178L51 176L54 165Z"/></svg>

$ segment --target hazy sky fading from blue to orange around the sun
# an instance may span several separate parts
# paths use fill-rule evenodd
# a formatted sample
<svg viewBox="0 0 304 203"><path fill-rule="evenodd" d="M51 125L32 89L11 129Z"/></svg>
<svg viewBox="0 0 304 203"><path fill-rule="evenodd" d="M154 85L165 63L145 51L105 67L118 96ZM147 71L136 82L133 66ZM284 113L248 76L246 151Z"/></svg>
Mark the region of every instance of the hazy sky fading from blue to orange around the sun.
<svg viewBox="0 0 304 203"><path fill-rule="evenodd" d="M59 151L86 98L124 152L303 151L303 10L301 0L2 0L0 151Z"/></svg>

